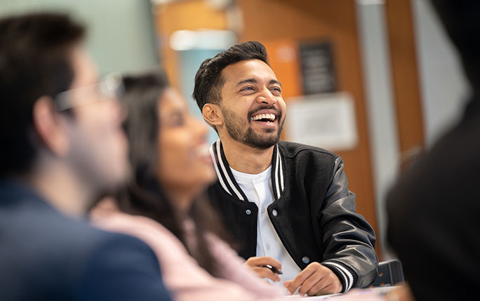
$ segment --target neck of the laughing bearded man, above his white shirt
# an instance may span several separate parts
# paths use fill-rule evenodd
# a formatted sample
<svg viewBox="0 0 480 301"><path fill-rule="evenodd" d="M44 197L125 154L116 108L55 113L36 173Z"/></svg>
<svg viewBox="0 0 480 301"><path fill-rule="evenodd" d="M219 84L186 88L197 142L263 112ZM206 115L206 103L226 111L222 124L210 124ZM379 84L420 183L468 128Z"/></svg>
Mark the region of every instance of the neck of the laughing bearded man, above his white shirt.
<svg viewBox="0 0 480 301"><path fill-rule="evenodd" d="M233 139L223 139L223 152L229 166L241 173L256 175L272 164L274 146L267 149L249 147Z"/></svg>

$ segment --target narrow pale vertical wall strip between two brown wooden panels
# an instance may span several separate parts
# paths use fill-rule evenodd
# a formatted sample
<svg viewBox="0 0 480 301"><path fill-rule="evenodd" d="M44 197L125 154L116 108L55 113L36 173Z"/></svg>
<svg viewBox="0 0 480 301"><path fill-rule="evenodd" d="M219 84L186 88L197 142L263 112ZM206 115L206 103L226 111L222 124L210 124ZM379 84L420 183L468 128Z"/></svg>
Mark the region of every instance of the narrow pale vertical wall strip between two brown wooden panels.
<svg viewBox="0 0 480 301"><path fill-rule="evenodd" d="M385 1L357 0L356 15L377 211L376 234L383 258L388 260L392 255L387 246L385 201L399 170L399 138L392 91Z"/></svg>

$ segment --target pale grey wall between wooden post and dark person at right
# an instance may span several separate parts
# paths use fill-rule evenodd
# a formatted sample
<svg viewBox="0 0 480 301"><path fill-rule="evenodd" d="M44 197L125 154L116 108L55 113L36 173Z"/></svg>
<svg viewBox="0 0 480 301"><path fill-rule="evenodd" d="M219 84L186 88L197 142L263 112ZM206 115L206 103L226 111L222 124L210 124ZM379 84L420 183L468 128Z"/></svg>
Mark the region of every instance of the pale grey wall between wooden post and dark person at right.
<svg viewBox="0 0 480 301"><path fill-rule="evenodd" d="M467 80L456 49L427 0L411 0L427 147L462 114Z"/></svg>

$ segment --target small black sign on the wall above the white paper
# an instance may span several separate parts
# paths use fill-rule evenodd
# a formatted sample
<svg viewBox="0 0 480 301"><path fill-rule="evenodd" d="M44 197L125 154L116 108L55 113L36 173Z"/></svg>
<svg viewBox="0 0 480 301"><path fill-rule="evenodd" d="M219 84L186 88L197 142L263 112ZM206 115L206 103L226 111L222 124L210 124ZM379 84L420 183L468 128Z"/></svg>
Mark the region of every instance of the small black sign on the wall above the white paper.
<svg viewBox="0 0 480 301"><path fill-rule="evenodd" d="M300 43L300 66L305 95L337 91L330 42Z"/></svg>

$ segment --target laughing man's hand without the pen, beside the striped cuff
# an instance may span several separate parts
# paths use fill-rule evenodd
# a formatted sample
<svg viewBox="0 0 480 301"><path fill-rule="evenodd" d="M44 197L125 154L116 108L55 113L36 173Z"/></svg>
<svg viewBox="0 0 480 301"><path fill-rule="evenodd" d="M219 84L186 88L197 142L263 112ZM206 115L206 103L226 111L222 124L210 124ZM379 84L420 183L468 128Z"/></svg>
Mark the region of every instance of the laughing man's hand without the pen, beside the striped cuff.
<svg viewBox="0 0 480 301"><path fill-rule="evenodd" d="M295 279L285 281L284 286L291 294L300 288L298 293L301 296L305 294L309 296L335 294L342 291L342 283L337 275L319 262L307 265Z"/></svg>

